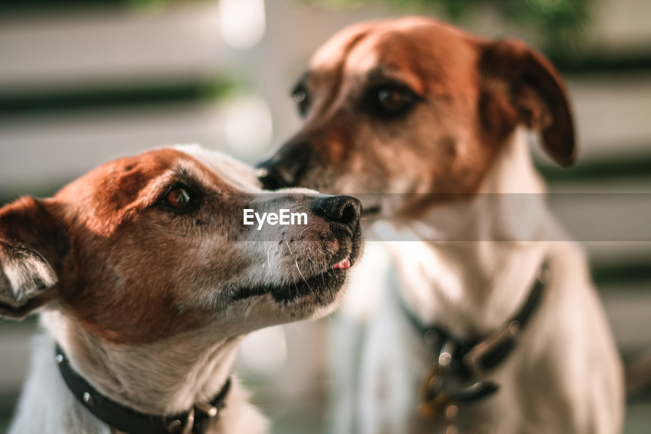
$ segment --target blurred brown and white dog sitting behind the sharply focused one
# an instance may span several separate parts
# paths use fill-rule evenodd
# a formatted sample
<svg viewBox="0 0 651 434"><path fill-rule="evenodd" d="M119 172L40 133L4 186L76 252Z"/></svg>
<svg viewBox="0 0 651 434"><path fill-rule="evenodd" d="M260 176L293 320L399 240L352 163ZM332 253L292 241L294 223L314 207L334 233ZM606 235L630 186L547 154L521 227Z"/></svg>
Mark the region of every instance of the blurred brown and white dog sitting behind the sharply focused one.
<svg viewBox="0 0 651 434"><path fill-rule="evenodd" d="M372 306L376 285L384 297L357 374L343 375L356 386L340 385L346 408L338 409L337 434L354 426L620 431L615 342L585 255L547 209L527 149L530 128L555 162L575 158L568 97L549 61L518 40L479 38L429 18L365 22L316 52L293 95L305 124L260 165L263 184L359 194L368 218L385 219L374 229L389 241L380 243L388 277L378 277L374 262L359 276L366 292L358 302ZM544 290L534 297L544 264ZM519 317L527 324L512 320ZM421 336L428 325L433 334ZM497 392L454 395L445 373L462 354L459 342L495 349L514 340L494 368L475 369L464 356L449 374L459 387L470 384L461 392ZM433 417L417 414L419 402Z"/></svg>

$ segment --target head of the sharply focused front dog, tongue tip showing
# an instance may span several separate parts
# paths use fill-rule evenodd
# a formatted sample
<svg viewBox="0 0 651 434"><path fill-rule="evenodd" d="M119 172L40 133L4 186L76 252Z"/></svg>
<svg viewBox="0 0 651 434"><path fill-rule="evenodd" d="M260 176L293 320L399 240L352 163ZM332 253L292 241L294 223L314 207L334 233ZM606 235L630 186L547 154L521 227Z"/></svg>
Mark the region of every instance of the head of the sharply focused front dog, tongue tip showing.
<svg viewBox="0 0 651 434"><path fill-rule="evenodd" d="M0 209L0 315L42 306L116 343L236 336L331 310L360 238L352 197L268 194L227 156L158 149Z"/></svg>

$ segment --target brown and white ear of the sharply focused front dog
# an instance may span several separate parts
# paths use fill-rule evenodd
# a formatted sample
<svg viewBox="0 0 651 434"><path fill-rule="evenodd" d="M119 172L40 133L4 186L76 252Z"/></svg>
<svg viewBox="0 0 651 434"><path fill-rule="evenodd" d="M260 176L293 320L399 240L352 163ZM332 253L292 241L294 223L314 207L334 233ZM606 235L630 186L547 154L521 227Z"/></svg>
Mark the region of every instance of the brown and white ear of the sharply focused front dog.
<svg viewBox="0 0 651 434"><path fill-rule="evenodd" d="M23 197L0 209L0 315L22 318L53 298L50 261L59 264L68 246L42 202Z"/></svg>

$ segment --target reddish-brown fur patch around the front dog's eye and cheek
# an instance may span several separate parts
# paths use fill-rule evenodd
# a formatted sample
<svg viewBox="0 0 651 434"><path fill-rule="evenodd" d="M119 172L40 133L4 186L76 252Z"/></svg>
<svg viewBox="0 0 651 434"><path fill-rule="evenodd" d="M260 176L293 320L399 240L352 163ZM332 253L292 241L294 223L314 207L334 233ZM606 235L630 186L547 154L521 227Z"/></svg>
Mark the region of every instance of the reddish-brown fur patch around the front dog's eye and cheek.
<svg viewBox="0 0 651 434"><path fill-rule="evenodd" d="M161 204L177 182L201 195L184 214ZM224 197L238 191L184 152L161 149L105 164L47 205L68 227L72 267L59 302L90 332L120 343L155 341L205 325L197 300L248 264L233 252ZM201 220L202 224L197 224ZM237 259L236 259L237 258Z"/></svg>

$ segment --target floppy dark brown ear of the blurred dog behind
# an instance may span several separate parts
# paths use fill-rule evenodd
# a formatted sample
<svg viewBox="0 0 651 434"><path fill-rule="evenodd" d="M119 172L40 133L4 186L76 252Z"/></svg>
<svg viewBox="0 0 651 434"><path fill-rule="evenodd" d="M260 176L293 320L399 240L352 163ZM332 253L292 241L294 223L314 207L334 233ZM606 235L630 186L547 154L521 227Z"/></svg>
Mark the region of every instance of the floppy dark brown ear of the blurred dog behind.
<svg viewBox="0 0 651 434"><path fill-rule="evenodd" d="M525 124L542 134L547 154L555 162L574 163L574 121L559 72L519 40L488 42L481 50L484 127L503 138Z"/></svg>

